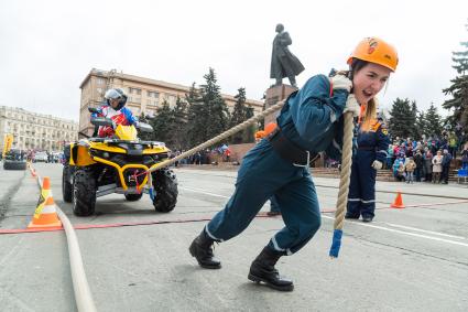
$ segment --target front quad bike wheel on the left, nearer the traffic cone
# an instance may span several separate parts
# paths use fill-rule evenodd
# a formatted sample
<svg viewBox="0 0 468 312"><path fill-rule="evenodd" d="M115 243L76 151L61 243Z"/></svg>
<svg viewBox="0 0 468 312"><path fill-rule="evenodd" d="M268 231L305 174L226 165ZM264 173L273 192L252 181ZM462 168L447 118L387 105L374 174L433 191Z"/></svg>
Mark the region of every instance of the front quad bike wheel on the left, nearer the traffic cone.
<svg viewBox="0 0 468 312"><path fill-rule="evenodd" d="M77 169L73 180L73 213L89 216L95 213L96 179L89 169Z"/></svg>

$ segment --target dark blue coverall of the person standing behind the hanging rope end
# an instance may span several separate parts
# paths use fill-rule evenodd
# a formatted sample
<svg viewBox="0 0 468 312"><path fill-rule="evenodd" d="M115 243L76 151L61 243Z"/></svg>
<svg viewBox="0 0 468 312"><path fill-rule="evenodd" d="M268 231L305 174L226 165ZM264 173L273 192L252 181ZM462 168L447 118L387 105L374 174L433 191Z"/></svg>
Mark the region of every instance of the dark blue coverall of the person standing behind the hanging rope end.
<svg viewBox="0 0 468 312"><path fill-rule="evenodd" d="M352 155L351 180L348 193L346 216L350 218L373 218L376 211L377 170L372 162L384 162L390 144L387 128L380 121L372 125L369 131L357 131L357 150Z"/></svg>

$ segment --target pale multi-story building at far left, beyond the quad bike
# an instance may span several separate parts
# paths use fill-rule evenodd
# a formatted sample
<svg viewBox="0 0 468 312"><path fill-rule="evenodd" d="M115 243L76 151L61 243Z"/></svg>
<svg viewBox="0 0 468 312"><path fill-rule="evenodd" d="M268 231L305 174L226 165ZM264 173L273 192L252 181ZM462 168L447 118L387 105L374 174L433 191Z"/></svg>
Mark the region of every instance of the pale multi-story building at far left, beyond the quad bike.
<svg viewBox="0 0 468 312"><path fill-rule="evenodd" d="M78 123L22 108L0 106L0 140L13 135L12 148L21 150L61 151L64 142L78 139Z"/></svg>

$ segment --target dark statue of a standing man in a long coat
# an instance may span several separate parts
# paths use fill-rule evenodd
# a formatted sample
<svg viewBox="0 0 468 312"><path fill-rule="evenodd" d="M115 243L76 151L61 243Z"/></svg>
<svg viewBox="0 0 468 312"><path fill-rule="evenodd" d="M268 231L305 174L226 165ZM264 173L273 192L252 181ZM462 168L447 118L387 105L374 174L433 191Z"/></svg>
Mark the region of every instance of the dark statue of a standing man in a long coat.
<svg viewBox="0 0 468 312"><path fill-rule="evenodd" d="M290 34L284 31L283 24L276 25L276 32L277 34L273 40L270 78L276 79L275 86L279 86L283 83L283 78L287 77L291 85L297 87L295 76L304 71L304 66L287 47L293 41Z"/></svg>

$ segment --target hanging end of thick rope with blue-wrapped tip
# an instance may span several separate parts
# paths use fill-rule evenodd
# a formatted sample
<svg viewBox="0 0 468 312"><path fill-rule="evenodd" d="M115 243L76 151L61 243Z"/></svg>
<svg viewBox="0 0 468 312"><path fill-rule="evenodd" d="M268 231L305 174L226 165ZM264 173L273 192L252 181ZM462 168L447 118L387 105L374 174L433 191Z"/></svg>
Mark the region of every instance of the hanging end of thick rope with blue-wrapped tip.
<svg viewBox="0 0 468 312"><path fill-rule="evenodd" d="M336 203L334 238L330 248L330 257L337 258L341 246L342 225L345 222L346 205L348 203L349 177L352 163L352 112L345 112L345 129L342 138L341 174L339 180L338 200Z"/></svg>

